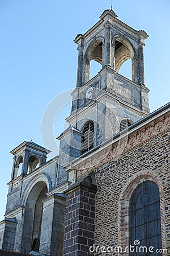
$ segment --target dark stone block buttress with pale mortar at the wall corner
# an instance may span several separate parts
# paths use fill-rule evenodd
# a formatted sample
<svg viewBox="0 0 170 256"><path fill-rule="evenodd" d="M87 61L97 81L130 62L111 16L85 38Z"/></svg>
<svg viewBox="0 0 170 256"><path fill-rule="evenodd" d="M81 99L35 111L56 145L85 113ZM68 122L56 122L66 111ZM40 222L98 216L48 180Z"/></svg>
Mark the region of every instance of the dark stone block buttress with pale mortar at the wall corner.
<svg viewBox="0 0 170 256"><path fill-rule="evenodd" d="M86 175L71 185L65 194L66 222L63 256L90 256L95 241L95 177ZM94 179L93 179L94 178Z"/></svg>

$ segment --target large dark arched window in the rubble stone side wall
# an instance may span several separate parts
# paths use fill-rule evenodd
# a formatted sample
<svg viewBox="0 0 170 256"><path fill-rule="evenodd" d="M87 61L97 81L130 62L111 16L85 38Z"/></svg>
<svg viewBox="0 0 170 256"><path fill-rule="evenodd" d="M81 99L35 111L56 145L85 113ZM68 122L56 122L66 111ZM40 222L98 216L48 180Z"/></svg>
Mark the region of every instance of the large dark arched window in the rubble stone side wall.
<svg viewBox="0 0 170 256"><path fill-rule="evenodd" d="M138 251L130 255L151 255L148 251L150 246L155 250L162 249L159 188L154 181L143 181L131 196L129 232L130 245L134 246L134 241L139 240L139 246L147 247L144 253ZM162 253L156 253L156 255L162 255Z"/></svg>

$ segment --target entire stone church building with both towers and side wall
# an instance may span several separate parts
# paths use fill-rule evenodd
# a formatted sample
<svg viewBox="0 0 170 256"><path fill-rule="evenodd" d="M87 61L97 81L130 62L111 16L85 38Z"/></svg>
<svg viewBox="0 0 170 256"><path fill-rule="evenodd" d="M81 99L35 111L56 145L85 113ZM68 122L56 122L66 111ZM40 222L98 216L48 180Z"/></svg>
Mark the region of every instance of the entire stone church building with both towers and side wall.
<svg viewBox="0 0 170 256"><path fill-rule="evenodd" d="M51 256L131 255L105 248L129 246L131 195L139 184L153 181L159 189L162 249L167 250L156 255L170 255L170 104L149 114L147 37L113 10L76 36L78 76L66 119L70 126L58 137L59 155L49 162L50 151L32 141L11 151L0 249ZM129 58L132 80L118 74ZM91 60L102 69L89 80Z"/></svg>

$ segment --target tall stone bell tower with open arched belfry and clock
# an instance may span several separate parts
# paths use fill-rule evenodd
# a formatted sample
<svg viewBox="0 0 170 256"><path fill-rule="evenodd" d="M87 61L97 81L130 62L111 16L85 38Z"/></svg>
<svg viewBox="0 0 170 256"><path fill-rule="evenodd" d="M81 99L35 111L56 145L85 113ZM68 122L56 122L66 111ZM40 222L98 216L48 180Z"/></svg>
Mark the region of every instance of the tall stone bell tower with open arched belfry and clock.
<svg viewBox="0 0 170 256"><path fill-rule="evenodd" d="M150 113L143 55L147 38L145 31L134 30L119 20L112 9L105 10L99 22L85 34L76 36L77 82L71 114L66 120L84 134L82 152ZM131 80L118 73L128 59L131 59ZM101 64L101 70L92 79L91 60Z"/></svg>

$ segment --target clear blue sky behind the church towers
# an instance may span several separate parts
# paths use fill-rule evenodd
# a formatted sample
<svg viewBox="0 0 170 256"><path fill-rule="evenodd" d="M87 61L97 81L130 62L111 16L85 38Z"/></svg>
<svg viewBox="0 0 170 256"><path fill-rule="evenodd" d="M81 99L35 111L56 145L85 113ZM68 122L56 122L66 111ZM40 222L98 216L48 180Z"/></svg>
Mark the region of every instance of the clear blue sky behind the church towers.
<svg viewBox="0 0 170 256"><path fill-rule="evenodd" d="M1 186L0 220L5 213L12 148L31 139L41 141L41 119L49 102L75 87L78 51L75 36L99 20L110 0L1 0ZM150 37L145 47L146 85L151 112L169 101L169 0L113 0L118 18ZM125 64L122 74L129 74ZM69 106L54 126L63 129ZM48 131L47 131L48 132ZM50 149L50 148L49 148Z"/></svg>

